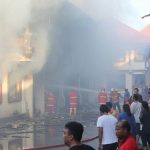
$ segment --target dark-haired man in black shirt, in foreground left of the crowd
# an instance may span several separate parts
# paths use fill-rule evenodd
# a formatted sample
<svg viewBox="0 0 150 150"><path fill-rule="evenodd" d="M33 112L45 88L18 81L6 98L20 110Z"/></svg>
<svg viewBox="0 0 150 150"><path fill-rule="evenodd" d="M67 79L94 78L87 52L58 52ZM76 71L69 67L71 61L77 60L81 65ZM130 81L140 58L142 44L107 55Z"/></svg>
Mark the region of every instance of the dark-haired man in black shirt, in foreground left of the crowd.
<svg viewBox="0 0 150 150"><path fill-rule="evenodd" d="M63 139L69 150L95 150L93 147L81 143L83 131L83 125L79 122L72 121L65 124Z"/></svg>

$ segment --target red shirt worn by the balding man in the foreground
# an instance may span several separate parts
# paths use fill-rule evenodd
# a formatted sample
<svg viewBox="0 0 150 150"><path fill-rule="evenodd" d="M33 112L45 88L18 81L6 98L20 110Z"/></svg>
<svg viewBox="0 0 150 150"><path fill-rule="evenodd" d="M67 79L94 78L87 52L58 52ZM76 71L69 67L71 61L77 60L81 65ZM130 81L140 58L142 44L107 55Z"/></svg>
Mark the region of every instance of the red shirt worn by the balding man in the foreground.
<svg viewBox="0 0 150 150"><path fill-rule="evenodd" d="M128 135L120 144L119 150L138 150L137 144L131 135Z"/></svg>

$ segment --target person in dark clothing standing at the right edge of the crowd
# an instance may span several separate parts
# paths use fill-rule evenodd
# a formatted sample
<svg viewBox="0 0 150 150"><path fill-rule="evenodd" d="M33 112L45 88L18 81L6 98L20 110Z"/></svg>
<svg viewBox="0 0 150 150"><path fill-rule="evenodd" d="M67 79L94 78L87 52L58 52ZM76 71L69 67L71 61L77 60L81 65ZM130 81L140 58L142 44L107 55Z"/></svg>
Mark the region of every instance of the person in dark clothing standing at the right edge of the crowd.
<svg viewBox="0 0 150 150"><path fill-rule="evenodd" d="M143 150L147 150L147 143L150 146L150 110L146 101L142 102L140 121L142 124L141 139Z"/></svg>

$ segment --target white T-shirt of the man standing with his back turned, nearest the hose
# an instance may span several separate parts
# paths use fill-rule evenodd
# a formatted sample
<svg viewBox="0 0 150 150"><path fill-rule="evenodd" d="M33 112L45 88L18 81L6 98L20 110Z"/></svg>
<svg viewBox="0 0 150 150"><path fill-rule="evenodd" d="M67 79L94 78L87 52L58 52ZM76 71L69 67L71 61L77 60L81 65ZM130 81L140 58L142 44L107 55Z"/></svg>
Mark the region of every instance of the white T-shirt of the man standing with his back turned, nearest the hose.
<svg viewBox="0 0 150 150"><path fill-rule="evenodd" d="M117 119L112 115L102 115L97 120L97 127L103 128L102 145L117 142L115 133Z"/></svg>

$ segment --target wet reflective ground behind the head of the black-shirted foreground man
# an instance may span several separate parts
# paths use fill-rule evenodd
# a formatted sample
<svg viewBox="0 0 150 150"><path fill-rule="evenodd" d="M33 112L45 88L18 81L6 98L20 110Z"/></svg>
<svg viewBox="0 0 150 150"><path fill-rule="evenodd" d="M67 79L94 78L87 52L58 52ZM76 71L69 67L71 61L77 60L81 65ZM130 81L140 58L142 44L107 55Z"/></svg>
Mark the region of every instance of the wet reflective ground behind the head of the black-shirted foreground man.
<svg viewBox="0 0 150 150"><path fill-rule="evenodd" d="M63 143L63 127L67 120L53 124L45 121L16 121L0 125L0 150L21 150ZM83 122L84 136L94 137L97 129L93 122ZM58 148L57 148L58 149ZM66 147L61 148L65 150Z"/></svg>

